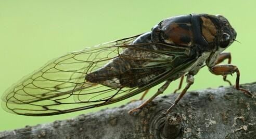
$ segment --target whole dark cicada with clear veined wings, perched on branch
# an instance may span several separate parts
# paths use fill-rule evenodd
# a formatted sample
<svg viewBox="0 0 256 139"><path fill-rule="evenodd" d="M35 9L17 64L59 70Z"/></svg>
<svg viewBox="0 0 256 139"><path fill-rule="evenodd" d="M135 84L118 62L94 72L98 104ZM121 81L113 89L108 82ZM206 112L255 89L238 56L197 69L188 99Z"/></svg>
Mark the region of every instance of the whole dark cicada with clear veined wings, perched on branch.
<svg viewBox="0 0 256 139"><path fill-rule="evenodd" d="M189 14L164 19L150 32L120 39L49 61L6 90L6 111L28 116L70 113L112 104L165 82L149 100L130 111L142 109L169 84L187 76L178 103L203 67L216 75L237 73L231 54L222 53L236 39L236 32L223 16ZM217 65L229 59L226 65Z"/></svg>

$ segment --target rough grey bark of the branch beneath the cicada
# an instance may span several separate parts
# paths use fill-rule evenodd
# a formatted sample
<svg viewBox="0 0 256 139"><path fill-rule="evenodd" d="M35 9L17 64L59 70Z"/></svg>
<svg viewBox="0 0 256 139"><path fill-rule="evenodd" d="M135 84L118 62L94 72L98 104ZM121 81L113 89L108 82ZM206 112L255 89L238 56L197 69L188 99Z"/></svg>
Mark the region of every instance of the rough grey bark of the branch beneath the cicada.
<svg viewBox="0 0 256 139"><path fill-rule="evenodd" d="M178 94L156 98L133 116L132 102L73 119L4 131L0 138L256 138L256 82L187 92L168 115L163 113Z"/></svg>

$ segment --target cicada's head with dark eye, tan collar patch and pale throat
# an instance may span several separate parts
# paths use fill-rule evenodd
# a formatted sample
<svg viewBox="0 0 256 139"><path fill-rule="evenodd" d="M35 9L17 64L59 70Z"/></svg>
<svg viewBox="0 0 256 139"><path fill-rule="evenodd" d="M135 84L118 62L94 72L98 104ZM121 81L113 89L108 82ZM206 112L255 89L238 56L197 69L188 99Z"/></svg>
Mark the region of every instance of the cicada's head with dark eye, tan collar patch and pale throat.
<svg viewBox="0 0 256 139"><path fill-rule="evenodd" d="M201 49L211 52L206 60L208 67L215 65L217 57L236 39L236 31L226 18L220 15L203 14L201 17L202 36L209 44Z"/></svg>

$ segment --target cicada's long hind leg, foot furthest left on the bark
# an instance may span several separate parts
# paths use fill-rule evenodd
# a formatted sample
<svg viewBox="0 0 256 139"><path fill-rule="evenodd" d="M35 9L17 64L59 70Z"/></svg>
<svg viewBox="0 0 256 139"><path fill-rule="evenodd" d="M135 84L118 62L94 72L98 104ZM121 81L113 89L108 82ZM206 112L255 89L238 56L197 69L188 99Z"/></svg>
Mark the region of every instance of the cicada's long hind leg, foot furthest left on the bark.
<svg viewBox="0 0 256 139"><path fill-rule="evenodd" d="M167 87L170 85L172 81L168 80L167 82L165 82L163 84L163 86L161 86L158 91L156 92L155 95L153 95L150 99L148 99L147 101L145 101L144 103L140 104L138 107L136 107L135 109L132 109L129 111L129 114L133 114L134 112L142 109L145 105L147 105L148 103L150 103L154 98L156 98L158 95L162 94L164 90L167 89Z"/></svg>

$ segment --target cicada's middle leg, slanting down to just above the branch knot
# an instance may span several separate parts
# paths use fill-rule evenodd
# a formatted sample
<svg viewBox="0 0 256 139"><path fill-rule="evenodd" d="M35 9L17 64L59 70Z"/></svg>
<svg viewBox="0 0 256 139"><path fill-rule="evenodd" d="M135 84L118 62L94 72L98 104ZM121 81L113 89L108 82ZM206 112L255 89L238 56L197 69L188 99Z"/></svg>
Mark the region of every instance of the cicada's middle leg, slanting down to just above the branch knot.
<svg viewBox="0 0 256 139"><path fill-rule="evenodd" d="M178 103L178 101L181 100L181 98L186 94L187 89L194 84L194 77L191 74L187 74L187 85L186 87L182 90L181 94L178 95L178 97L175 99L173 105L165 112L165 114L168 114L171 112L172 108Z"/></svg>

